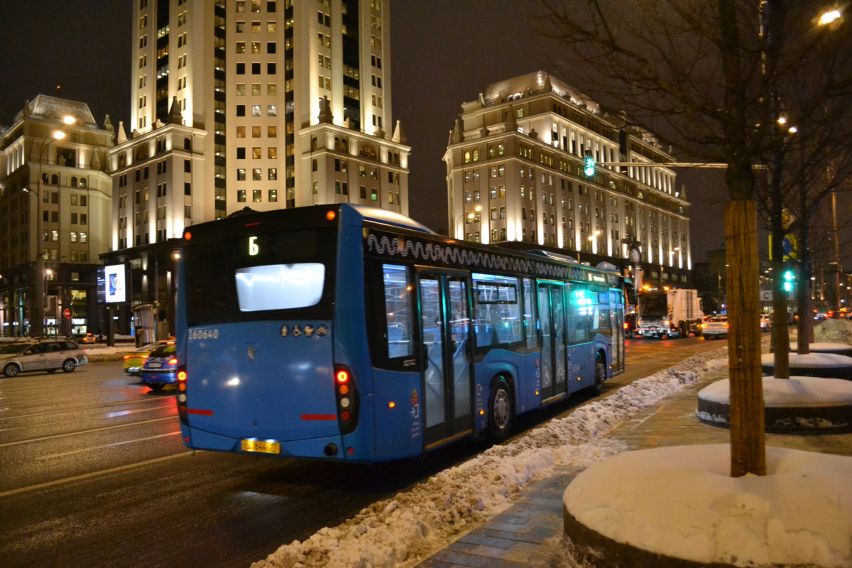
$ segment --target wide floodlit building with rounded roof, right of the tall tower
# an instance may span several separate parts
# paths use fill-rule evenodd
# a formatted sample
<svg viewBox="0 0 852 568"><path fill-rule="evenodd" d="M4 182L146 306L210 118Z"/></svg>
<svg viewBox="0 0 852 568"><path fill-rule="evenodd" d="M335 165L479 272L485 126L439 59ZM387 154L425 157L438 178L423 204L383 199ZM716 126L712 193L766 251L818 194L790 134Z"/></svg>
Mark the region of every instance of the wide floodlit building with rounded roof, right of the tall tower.
<svg viewBox="0 0 852 568"><path fill-rule="evenodd" d="M514 77L463 103L444 161L455 238L641 263L646 279L687 282L689 204L675 172L630 165L671 163L671 154L556 77Z"/></svg>

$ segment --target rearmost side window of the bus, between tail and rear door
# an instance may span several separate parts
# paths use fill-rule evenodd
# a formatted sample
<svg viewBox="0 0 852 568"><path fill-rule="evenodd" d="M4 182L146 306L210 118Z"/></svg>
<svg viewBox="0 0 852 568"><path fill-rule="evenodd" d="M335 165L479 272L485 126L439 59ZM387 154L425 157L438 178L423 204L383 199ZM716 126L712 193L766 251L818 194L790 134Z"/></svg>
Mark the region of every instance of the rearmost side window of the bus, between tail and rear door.
<svg viewBox="0 0 852 568"><path fill-rule="evenodd" d="M382 265L384 307L387 322L388 359L411 357L414 353L412 339L413 284L406 267Z"/></svg>

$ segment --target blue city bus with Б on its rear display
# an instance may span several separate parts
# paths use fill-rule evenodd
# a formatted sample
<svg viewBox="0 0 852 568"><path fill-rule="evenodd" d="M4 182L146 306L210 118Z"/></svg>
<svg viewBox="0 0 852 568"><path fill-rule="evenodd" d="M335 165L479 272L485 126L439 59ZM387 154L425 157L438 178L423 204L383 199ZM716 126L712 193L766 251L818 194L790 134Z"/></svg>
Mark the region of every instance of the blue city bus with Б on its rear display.
<svg viewBox="0 0 852 568"><path fill-rule="evenodd" d="M178 410L190 448L382 462L600 392L625 368L612 265L446 238L383 209L187 228Z"/></svg>

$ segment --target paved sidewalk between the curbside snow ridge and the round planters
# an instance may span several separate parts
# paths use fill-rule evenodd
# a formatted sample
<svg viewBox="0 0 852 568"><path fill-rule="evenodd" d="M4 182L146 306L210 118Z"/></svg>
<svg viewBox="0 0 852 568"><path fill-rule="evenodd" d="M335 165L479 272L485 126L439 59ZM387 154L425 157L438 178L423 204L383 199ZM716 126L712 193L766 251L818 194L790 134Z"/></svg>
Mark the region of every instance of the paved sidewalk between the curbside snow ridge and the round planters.
<svg viewBox="0 0 852 568"><path fill-rule="evenodd" d="M728 378L716 370L699 382L666 397L607 434L628 450L666 445L726 444L727 428L699 422L695 417L699 390ZM796 450L852 456L852 433L766 434L766 444ZM562 534L562 493L580 468L561 467L524 488L509 508L485 524L423 560L418 568L521 568L543 566L552 555L544 541Z"/></svg>

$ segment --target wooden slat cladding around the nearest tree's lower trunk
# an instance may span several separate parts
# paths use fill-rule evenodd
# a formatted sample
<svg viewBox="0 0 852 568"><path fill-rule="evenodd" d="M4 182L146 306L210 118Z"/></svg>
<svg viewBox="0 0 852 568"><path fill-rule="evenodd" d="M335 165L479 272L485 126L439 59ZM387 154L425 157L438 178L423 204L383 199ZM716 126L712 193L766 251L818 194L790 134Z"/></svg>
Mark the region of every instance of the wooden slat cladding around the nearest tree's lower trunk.
<svg viewBox="0 0 852 568"><path fill-rule="evenodd" d="M728 261L728 372L730 376L731 476L766 474L763 377L760 370L757 205L725 204Z"/></svg>

